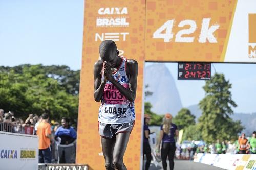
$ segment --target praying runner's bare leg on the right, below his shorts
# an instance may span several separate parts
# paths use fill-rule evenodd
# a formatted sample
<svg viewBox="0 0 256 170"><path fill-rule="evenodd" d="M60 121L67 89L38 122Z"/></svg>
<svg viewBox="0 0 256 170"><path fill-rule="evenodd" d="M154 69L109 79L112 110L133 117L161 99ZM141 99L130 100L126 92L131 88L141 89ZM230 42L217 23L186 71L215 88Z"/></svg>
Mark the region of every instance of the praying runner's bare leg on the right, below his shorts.
<svg viewBox="0 0 256 170"><path fill-rule="evenodd" d="M123 156L129 141L130 131L124 133L118 133L116 135L116 144L113 153L113 164L117 170L126 170L123 164Z"/></svg>

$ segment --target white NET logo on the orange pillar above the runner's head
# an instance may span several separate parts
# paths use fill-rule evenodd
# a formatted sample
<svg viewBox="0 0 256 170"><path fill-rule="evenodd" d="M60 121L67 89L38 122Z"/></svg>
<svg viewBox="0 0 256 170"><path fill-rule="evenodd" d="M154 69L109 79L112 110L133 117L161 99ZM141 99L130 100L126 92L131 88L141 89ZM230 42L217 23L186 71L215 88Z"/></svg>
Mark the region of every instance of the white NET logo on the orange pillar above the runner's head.
<svg viewBox="0 0 256 170"><path fill-rule="evenodd" d="M95 33L95 41L104 41L104 40L112 40L112 41L126 41L129 33Z"/></svg>

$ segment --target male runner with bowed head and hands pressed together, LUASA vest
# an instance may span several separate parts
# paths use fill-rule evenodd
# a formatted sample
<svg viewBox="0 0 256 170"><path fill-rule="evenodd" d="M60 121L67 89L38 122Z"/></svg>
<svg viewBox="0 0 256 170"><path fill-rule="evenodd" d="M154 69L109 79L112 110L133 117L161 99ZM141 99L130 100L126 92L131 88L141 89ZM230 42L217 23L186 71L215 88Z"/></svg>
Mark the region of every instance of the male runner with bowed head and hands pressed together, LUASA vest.
<svg viewBox="0 0 256 170"><path fill-rule="evenodd" d="M126 169L123 155L134 126L138 63L119 57L114 41L99 46L94 64L94 99L99 102L99 134L106 169Z"/></svg>

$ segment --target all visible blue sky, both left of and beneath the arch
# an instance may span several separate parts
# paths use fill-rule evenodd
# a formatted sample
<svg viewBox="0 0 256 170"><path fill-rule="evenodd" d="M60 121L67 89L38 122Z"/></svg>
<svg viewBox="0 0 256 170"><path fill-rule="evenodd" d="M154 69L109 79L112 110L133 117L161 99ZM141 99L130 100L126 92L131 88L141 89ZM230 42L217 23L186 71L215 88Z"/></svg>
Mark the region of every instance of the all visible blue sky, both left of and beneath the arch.
<svg viewBox="0 0 256 170"><path fill-rule="evenodd" d="M83 0L0 0L0 65L41 63L80 69L83 10ZM177 80L177 63L166 66L182 105L197 104L204 97L205 82ZM256 64L216 63L214 67L232 83L232 99L238 105L234 111L256 112Z"/></svg>

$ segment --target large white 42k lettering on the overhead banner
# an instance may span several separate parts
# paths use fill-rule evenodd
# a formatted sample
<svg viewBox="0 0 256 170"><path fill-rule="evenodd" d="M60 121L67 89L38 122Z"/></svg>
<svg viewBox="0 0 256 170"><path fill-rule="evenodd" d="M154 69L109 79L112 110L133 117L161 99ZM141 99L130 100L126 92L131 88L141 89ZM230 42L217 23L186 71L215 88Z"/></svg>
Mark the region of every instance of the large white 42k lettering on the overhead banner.
<svg viewBox="0 0 256 170"><path fill-rule="evenodd" d="M198 42L200 43L206 43L206 40L208 40L208 42L210 43L217 43L217 39L214 36L214 32L217 29L219 29L220 25L215 23L214 25L210 26L210 20L211 18L203 18L202 20L201 32L198 38ZM166 21L160 28L158 28L154 32L153 38L162 38L164 42L170 42L174 37L174 34L172 32L174 27L174 21L174 19ZM190 28L178 31L178 33L175 36L175 42L194 42L194 36L183 37L183 35L193 34L197 29L197 23L194 20L182 20L179 23L178 27L182 28L186 25L189 25ZM164 30L166 30L165 33L162 33Z"/></svg>

